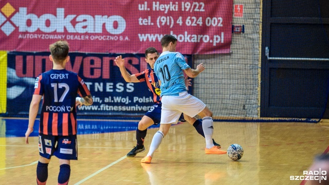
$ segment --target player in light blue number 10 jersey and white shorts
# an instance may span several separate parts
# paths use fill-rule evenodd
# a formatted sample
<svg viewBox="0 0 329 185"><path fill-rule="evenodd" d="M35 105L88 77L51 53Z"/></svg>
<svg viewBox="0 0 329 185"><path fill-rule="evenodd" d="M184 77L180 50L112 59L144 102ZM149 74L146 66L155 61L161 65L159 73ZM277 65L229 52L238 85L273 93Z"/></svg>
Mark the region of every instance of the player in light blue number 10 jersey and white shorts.
<svg viewBox="0 0 329 185"><path fill-rule="evenodd" d="M172 35L165 35L161 39L162 53L154 64L154 72L161 83L161 121L159 131L153 136L149 153L143 157L142 163L151 163L153 154L167 135L171 124L176 124L181 113L190 117L199 115L202 117L202 126L206 139L206 154L226 154L212 142L213 120L212 112L201 100L187 93L184 82L184 72L187 76L194 78L205 70L203 63L196 69L185 62L183 55L176 51L177 39Z"/></svg>

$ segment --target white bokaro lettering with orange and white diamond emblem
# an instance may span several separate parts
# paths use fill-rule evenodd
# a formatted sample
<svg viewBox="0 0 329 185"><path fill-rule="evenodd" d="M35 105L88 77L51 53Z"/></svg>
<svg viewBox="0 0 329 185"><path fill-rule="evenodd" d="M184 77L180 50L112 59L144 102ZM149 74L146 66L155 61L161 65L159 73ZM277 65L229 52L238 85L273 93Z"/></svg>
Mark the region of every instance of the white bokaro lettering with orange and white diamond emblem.
<svg viewBox="0 0 329 185"><path fill-rule="evenodd" d="M121 34L126 28L126 22L122 16L119 15L66 15L64 14L64 8L57 8L56 15L43 14L40 17L33 13L27 14L26 7L20 7L10 21L8 18L15 12L15 9L7 3L0 9L0 25L1 30L8 36L14 30L15 27L19 28L20 32L34 32L38 29L45 33L50 32L64 32L64 28L69 33L102 33L103 25L108 33ZM71 21L76 22L72 25ZM29 21L29 24L28 24ZM114 23L117 22L116 28ZM3 24L5 23L5 24Z"/></svg>

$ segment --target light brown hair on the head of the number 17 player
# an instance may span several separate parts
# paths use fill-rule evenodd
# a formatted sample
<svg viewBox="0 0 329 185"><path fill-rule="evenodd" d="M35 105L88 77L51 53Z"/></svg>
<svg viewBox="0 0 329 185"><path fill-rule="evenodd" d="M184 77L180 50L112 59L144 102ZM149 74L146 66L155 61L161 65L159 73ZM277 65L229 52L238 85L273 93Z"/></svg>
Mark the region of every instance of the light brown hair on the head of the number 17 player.
<svg viewBox="0 0 329 185"><path fill-rule="evenodd" d="M55 62L62 62L68 55L68 43L66 41L57 41L49 45L49 50Z"/></svg>

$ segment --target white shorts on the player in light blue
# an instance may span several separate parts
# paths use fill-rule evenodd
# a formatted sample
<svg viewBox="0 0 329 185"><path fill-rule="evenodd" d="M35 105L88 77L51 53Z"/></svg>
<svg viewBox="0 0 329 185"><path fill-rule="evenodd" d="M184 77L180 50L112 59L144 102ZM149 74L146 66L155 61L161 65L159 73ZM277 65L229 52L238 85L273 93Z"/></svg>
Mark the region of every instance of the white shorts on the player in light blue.
<svg viewBox="0 0 329 185"><path fill-rule="evenodd" d="M179 93L179 96L162 96L161 102L160 124L176 124L181 113L193 118L206 107L204 102L187 92Z"/></svg>

